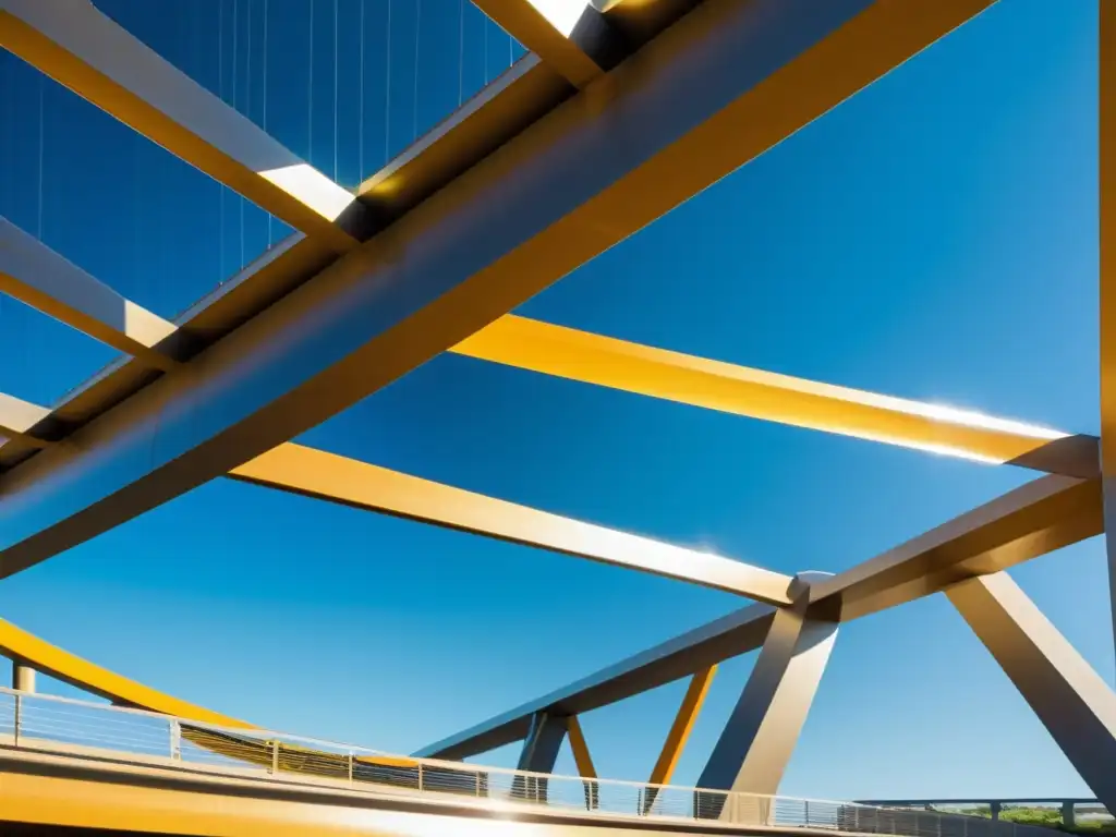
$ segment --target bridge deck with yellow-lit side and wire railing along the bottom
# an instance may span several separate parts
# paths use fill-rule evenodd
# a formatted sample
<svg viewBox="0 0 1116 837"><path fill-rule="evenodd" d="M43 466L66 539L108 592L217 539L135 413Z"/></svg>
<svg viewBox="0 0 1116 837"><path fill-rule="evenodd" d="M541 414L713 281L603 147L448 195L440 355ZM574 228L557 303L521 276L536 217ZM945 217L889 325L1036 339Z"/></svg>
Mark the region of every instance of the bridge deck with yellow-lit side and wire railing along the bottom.
<svg viewBox="0 0 1116 837"><path fill-rule="evenodd" d="M17 714L17 702L20 712ZM18 725L17 725L18 724ZM195 745L176 730L192 728L212 737L225 735L254 742L244 754L219 754ZM18 741L17 741L18 740ZM275 748L275 749L272 749ZM256 752L280 752L277 769L260 763ZM357 768L354 770L354 757ZM392 768L405 762L407 767ZM105 706L45 695L20 695L0 690L0 810L6 820L123 827L196 834L201 819L209 818L209 834L272 834L230 831L231 826L251 822L261 828L275 822L300 828L312 824L314 833L344 822L347 827L375 824L373 834L459 834L465 821L444 817L484 817L477 827L483 834L509 829L521 834L514 822L535 824L530 834L548 834L541 826L562 826L556 834L591 835L595 828L623 827L695 834L754 834L763 829L793 829L797 834L859 831L904 837L1042 837L1046 829L1013 827L989 820L950 815L886 811L848 802L795 799L719 790L660 786L655 804L644 809L646 786L584 779L583 777L527 773L519 770L424 760L413 762L387 753L329 741L305 739L273 731L222 730L191 724L151 712ZM545 798L514 792L517 782L545 780ZM584 792L594 787L598 806L590 809ZM157 801L147 797L156 793ZM158 793L180 793L170 805ZM238 802L237 800L241 800ZM703 820L701 811L711 799L721 799L721 809L732 811L737 822ZM62 801L65 800L65 802ZM241 821L249 800L252 816ZM291 805L312 804L314 818L294 817ZM341 811L348 816L341 816ZM429 816L426 830L415 830L414 820L376 819L374 811L410 812ZM160 819L152 819L154 816ZM442 815L435 818L436 815ZM491 819L489 819L491 817ZM497 829L497 830L493 830ZM658 829L664 829L660 831ZM287 831L279 831L285 834ZM296 831L298 833L298 831ZM348 831L352 833L352 831ZM610 831L609 831L610 833ZM305 834L305 830L299 833Z"/></svg>

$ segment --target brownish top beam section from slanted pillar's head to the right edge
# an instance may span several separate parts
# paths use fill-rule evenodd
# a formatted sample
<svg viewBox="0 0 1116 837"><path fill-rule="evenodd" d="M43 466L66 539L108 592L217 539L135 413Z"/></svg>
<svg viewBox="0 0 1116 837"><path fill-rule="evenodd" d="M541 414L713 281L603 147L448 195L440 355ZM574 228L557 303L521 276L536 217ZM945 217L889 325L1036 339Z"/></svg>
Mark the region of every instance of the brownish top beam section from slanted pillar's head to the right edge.
<svg viewBox="0 0 1116 837"><path fill-rule="evenodd" d="M1099 480L1042 477L815 584L810 599L855 619L1103 531Z"/></svg>

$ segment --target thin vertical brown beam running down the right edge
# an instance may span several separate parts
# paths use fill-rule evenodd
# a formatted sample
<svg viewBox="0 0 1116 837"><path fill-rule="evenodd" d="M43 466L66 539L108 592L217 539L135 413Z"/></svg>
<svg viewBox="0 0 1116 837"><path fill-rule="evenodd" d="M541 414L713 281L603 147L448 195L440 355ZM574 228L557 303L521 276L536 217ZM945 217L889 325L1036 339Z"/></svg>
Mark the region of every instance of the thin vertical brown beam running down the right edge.
<svg viewBox="0 0 1116 837"><path fill-rule="evenodd" d="M1099 15L1100 470L1106 529L1116 532L1116 6L1112 0L1101 0ZM1116 536L1105 537L1105 548L1116 636Z"/></svg>

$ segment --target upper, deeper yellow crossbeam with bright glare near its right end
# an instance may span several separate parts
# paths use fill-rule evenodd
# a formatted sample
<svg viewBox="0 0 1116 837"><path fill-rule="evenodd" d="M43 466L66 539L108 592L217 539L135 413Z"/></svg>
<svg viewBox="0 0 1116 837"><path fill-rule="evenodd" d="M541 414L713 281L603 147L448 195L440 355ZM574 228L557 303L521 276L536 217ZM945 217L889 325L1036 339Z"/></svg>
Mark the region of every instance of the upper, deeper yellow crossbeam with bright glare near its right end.
<svg viewBox="0 0 1116 837"><path fill-rule="evenodd" d="M506 316L452 352L681 404L1003 463L1066 436L1022 422L642 346Z"/></svg>

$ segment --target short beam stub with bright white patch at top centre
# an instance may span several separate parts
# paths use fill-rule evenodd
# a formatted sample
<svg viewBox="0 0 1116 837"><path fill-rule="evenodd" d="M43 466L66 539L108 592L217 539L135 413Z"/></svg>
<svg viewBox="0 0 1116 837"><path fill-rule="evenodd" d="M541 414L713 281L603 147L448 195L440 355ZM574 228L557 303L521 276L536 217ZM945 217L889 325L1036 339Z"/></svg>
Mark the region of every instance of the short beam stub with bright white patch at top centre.
<svg viewBox="0 0 1116 837"><path fill-rule="evenodd" d="M586 0L473 0L473 4L575 87L585 87L604 73L602 54L607 54L615 35Z"/></svg>

